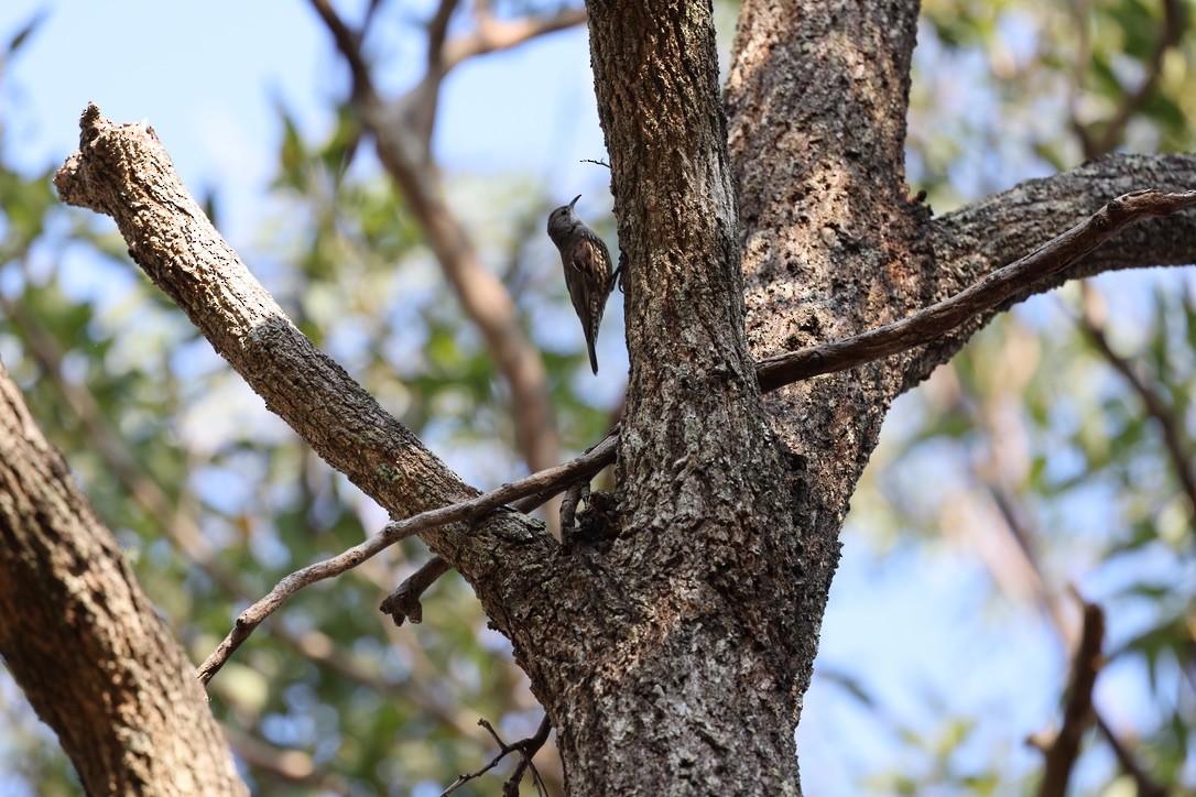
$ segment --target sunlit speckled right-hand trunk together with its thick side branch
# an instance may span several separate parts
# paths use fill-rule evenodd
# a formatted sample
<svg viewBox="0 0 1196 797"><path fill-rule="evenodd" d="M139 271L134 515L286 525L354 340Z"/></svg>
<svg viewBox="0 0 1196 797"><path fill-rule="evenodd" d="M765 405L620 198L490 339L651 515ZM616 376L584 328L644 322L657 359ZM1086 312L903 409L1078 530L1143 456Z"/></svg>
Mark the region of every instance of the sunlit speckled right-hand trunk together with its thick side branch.
<svg viewBox="0 0 1196 797"><path fill-rule="evenodd" d="M748 341L757 358L904 318L1027 255L1121 194L1196 185L1190 157L1118 158L932 220L904 183L917 12L915 0L743 5L726 103ZM1192 225L1191 213L1143 222L1046 284L1026 286L1013 301L1115 268L1190 263ZM768 397L805 544L801 692L838 533L892 399L946 362L991 315L921 350Z"/></svg>

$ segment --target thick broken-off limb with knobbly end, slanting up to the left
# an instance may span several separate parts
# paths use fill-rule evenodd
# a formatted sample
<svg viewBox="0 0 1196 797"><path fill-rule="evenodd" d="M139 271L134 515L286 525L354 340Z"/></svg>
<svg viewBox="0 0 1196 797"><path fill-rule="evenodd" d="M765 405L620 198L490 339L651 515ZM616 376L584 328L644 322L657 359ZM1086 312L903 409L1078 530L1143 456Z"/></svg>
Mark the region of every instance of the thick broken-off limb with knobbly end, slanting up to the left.
<svg viewBox="0 0 1196 797"><path fill-rule="evenodd" d="M291 324L187 194L147 125L115 125L89 106L80 149L55 184L68 204L111 215L134 260L267 406L395 516L476 497ZM487 516L472 529L437 527L423 538L475 587L492 574L499 583L518 580L517 562L543 560L555 546L515 513ZM488 602L493 595L478 596L492 618L504 617Z"/></svg>

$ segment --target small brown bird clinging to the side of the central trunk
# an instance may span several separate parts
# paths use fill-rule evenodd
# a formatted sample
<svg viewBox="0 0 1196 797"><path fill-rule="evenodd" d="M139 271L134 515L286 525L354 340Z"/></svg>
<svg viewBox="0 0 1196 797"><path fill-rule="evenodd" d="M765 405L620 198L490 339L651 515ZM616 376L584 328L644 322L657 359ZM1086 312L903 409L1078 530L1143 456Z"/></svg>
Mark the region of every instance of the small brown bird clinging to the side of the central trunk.
<svg viewBox="0 0 1196 797"><path fill-rule="evenodd" d="M615 281L611 275L610 250L598 233L590 229L573 210L580 198L579 194L573 197L573 202L548 214L548 237L561 252L565 286L569 289L573 309L576 311L581 331L586 336L590 367L597 374L598 355L594 352L594 344L598 342L598 327Z"/></svg>

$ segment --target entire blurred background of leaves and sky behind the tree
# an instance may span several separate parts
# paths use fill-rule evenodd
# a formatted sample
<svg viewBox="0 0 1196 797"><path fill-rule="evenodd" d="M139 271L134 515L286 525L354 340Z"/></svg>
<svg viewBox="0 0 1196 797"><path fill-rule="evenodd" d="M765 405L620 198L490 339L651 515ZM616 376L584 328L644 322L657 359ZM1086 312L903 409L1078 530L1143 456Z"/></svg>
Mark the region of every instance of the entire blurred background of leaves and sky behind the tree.
<svg viewBox="0 0 1196 797"><path fill-rule="evenodd" d="M384 85L419 78L432 11L382 4L367 45ZM1106 152L1194 149L1192 11L927 0L911 192L945 213ZM734 13L718 7L727 50ZM244 57L216 63L210 47L179 43L188 30ZM150 118L292 318L452 467L478 486L526 472L484 341L361 145L305 5L5 4L0 37L0 360L193 658L280 577L385 517L266 411L106 219L57 203L49 180L86 100ZM86 51L79 42L108 50L87 74L83 56L61 56ZM604 155L587 57L572 30L465 65L434 140L450 207L542 352L566 455L602 436L626 367L616 294L590 376L543 234L548 210L580 191L615 241L606 174L579 163ZM1184 270L1068 286L898 401L853 502L798 731L808 793L1033 791L1042 755L1026 738L1061 715L1072 590L1109 625L1096 691L1109 732L1086 737L1075 793L1196 793L1194 302ZM255 791L437 795L494 754L478 718L508 741L533 732L526 679L460 580L433 587L421 625L376 611L426 558L408 541L301 594L213 681ZM78 792L7 678L0 710L0 791ZM559 779L551 749L537 761Z"/></svg>

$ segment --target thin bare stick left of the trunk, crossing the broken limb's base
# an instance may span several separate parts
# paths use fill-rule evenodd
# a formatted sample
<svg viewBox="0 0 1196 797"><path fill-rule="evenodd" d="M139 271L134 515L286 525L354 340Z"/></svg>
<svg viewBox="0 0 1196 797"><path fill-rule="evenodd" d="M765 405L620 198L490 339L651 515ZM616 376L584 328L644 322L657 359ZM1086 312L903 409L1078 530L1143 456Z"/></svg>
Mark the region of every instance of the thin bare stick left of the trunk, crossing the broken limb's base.
<svg viewBox="0 0 1196 797"><path fill-rule="evenodd" d="M269 594L240 613L232 631L220 643L220 646L200 666L196 675L202 683L210 681L212 676L228 661L232 652L262 624L262 620L277 611L279 607L300 589L352 570L366 559L377 556L395 542L413 534L450 523L476 520L487 513L530 495L554 489L560 491L578 479L593 476L614 461L617 442L617 437L609 436L581 456L565 465L557 465L556 467L532 473L526 478L505 484L469 501L462 501L460 503L432 509L405 520L390 522L365 542L355 545L330 559L324 559L323 562L317 562L313 565L297 570L280 581Z"/></svg>

